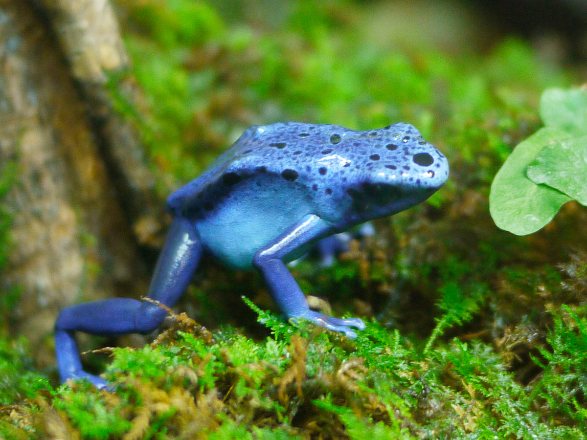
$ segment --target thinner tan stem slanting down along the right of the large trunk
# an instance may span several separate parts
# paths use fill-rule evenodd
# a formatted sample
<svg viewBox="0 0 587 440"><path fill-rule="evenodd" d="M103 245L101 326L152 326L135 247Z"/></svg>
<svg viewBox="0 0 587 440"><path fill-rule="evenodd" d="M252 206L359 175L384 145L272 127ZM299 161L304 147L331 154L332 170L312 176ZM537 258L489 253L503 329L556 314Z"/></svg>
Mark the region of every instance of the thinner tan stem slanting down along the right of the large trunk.
<svg viewBox="0 0 587 440"><path fill-rule="evenodd" d="M103 159L133 232L141 245L159 247L164 210L155 197L155 178L133 127L113 110L108 86L110 75L123 78L129 65L112 6L107 0L39 0L39 4L89 104ZM126 96L140 95L129 76L116 87L130 89Z"/></svg>

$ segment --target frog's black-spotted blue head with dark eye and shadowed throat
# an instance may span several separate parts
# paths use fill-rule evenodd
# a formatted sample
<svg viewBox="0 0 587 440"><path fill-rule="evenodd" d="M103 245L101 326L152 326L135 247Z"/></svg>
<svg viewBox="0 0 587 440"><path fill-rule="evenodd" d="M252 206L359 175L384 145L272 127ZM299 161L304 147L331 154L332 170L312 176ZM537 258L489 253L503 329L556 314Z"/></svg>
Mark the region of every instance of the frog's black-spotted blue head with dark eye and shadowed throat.
<svg viewBox="0 0 587 440"><path fill-rule="evenodd" d="M363 133L355 140L346 194L356 221L396 214L429 198L448 178L448 161L410 124ZM359 155L362 155L362 159Z"/></svg>

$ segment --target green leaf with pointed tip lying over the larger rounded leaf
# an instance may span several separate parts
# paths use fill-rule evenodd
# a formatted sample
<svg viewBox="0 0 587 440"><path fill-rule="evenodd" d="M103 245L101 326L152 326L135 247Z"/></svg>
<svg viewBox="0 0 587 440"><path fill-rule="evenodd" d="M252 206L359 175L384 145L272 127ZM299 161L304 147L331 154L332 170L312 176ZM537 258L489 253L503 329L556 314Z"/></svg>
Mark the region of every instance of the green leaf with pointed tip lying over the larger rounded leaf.
<svg viewBox="0 0 587 440"><path fill-rule="evenodd" d="M526 171L535 184L546 184L587 205L587 136L542 148Z"/></svg>

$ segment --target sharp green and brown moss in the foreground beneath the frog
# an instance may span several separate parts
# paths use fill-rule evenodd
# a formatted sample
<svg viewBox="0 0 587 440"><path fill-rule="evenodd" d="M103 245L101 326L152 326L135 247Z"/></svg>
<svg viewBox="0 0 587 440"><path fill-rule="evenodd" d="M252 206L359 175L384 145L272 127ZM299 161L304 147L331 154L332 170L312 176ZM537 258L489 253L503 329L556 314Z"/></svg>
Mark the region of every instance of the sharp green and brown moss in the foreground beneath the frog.
<svg viewBox="0 0 587 440"><path fill-rule="evenodd" d="M2 429L125 440L586 438L585 359L570 355L587 348L587 321L570 311L556 317L548 366L527 387L480 341L424 353L376 323L349 341L257 312L272 329L259 342L173 316L151 346L113 350L112 392L63 386L5 415Z"/></svg>

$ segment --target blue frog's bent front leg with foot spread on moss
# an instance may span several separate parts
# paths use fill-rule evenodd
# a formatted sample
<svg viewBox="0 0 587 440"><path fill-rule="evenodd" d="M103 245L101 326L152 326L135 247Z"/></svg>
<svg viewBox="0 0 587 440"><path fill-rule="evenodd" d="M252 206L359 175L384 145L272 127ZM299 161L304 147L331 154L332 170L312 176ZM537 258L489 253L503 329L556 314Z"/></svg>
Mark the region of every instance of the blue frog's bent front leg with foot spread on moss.
<svg viewBox="0 0 587 440"><path fill-rule="evenodd" d="M306 243L332 232L332 225L319 216L306 215L274 241L259 249L253 264L264 277L271 297L288 318L309 319L319 326L341 331L354 339L357 334L350 327L363 330L365 323L358 318L338 319L310 310L306 297L282 260Z"/></svg>

